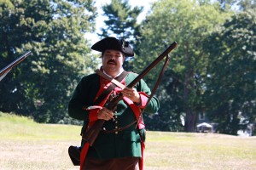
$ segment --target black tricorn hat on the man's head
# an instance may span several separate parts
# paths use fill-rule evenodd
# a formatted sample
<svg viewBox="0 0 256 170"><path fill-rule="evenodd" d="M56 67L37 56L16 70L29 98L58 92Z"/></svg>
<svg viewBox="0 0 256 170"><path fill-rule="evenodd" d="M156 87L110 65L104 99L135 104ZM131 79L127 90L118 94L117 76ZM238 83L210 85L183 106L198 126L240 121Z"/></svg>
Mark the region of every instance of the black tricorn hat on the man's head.
<svg viewBox="0 0 256 170"><path fill-rule="evenodd" d="M91 49L94 49L99 52L104 52L107 49L114 49L125 54L126 57L134 56L134 52L129 45L129 42L125 42L125 40L118 40L115 37L105 37L99 42L96 42Z"/></svg>

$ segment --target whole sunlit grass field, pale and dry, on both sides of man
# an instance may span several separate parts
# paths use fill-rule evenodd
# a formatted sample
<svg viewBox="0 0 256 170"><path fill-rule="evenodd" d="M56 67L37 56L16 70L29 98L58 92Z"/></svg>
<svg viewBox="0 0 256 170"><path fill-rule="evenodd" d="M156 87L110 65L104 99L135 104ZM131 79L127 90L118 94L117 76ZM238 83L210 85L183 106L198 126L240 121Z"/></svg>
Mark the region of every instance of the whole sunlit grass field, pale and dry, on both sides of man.
<svg viewBox="0 0 256 170"><path fill-rule="evenodd" d="M0 170L75 170L67 154L80 127L39 124L0 112ZM145 170L256 169L256 138L147 132Z"/></svg>

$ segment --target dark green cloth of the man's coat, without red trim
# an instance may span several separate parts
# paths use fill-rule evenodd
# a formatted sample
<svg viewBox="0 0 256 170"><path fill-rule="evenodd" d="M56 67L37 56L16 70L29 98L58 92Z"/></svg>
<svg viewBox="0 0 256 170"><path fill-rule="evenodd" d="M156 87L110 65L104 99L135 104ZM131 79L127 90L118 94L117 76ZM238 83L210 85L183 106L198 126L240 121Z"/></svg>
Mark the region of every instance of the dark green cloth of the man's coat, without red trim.
<svg viewBox="0 0 256 170"><path fill-rule="evenodd" d="M129 84L137 74L129 72L125 77L125 83ZM83 77L75 88L73 97L68 105L68 114L75 119L84 120L89 122L89 111L84 111L83 107L94 105L93 101L96 97L98 90L100 89L100 77L96 74ZM144 92L150 94L150 89L147 84L141 80L134 87L137 88L137 92ZM145 112L154 113L159 109L159 101L153 97ZM119 105L116 109L115 121L112 120L105 122L103 127L107 130L113 130L116 127L125 127L126 125L136 120L134 113L131 108L125 104L123 100L119 101ZM84 123L86 124L86 123ZM144 129L140 130L145 139ZM141 142L136 123L118 133L100 133L95 143L88 150L87 157L94 157L97 159L110 159L135 156L141 157Z"/></svg>

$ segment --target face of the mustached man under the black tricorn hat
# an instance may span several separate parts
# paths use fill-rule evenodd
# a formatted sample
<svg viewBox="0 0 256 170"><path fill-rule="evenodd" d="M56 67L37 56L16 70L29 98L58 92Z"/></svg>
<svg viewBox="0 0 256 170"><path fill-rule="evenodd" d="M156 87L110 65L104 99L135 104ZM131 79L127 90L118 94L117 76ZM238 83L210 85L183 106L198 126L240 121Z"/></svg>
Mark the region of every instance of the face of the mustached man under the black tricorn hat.
<svg viewBox="0 0 256 170"><path fill-rule="evenodd" d="M112 77L119 73L124 61L125 56L122 52L113 49L107 49L102 56L103 69Z"/></svg>

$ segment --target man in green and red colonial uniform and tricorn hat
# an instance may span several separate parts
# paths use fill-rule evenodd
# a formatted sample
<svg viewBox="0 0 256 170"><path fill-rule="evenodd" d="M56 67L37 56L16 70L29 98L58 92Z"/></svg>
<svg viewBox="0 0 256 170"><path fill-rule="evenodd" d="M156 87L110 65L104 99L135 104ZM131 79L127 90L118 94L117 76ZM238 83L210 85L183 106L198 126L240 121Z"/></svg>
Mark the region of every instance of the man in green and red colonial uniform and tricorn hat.
<svg viewBox="0 0 256 170"><path fill-rule="evenodd" d="M133 88L125 88L137 77L136 73L124 71L122 66L125 57L134 55L128 42L106 37L91 48L102 52L102 67L80 80L69 102L68 113L83 120L84 129L99 119L105 122L94 144L82 143L80 169L142 170L145 126L140 113L147 104L150 89L143 80ZM113 86L110 81L113 78L121 85ZM119 93L123 99L115 111L108 110L106 105ZM154 113L158 109L159 101L153 97L145 112Z"/></svg>

